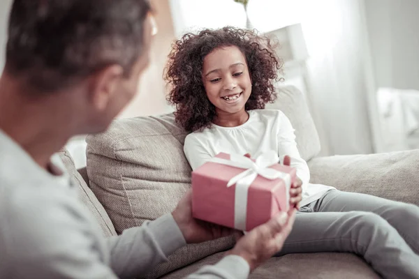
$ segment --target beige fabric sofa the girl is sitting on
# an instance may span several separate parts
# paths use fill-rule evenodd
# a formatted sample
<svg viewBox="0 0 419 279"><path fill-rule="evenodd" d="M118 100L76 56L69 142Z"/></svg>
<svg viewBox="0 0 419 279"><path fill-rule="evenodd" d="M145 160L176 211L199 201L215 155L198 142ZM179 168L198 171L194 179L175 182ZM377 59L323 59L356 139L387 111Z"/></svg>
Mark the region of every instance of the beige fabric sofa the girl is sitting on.
<svg viewBox="0 0 419 279"><path fill-rule="evenodd" d="M419 151L316 158L320 144L304 97L293 87L279 89L270 108L282 110L293 123L311 182L340 190L419 204ZM105 236L172 211L190 187L191 169L183 153L186 133L171 114L119 119L100 135L87 137L87 169L75 169L62 151L80 195ZM227 237L188 245L169 261L138 278L182 278L214 264L233 247ZM307 253L274 257L250 278L379 278L360 257L348 253Z"/></svg>

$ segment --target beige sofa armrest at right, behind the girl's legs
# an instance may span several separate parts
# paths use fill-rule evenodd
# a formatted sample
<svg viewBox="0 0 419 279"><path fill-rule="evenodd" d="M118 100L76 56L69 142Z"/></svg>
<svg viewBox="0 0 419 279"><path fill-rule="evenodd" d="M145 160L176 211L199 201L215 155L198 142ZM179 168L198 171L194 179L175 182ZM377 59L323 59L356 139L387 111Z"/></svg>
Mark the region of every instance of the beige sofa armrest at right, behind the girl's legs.
<svg viewBox="0 0 419 279"><path fill-rule="evenodd" d="M309 161L311 183L419 205L419 150Z"/></svg>

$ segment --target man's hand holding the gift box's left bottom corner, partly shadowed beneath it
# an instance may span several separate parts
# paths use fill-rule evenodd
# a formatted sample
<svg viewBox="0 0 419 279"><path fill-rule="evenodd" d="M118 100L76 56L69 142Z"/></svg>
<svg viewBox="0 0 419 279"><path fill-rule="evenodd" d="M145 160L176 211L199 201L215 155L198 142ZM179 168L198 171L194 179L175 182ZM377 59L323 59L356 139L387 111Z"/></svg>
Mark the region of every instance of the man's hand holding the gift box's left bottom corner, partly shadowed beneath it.
<svg viewBox="0 0 419 279"><path fill-rule="evenodd" d="M172 212L172 216L179 226L186 243L200 243L212 239L219 239L220 237L229 236L234 233L239 234L235 229L214 225L193 218L191 189L179 201L176 209Z"/></svg>

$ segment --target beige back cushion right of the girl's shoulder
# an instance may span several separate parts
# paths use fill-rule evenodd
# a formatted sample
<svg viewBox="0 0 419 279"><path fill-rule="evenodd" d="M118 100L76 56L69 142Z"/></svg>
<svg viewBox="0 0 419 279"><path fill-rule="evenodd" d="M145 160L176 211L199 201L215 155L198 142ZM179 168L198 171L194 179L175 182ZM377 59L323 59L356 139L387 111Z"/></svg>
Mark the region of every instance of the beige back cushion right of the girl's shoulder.
<svg viewBox="0 0 419 279"><path fill-rule="evenodd" d="M266 108L281 110L290 119L295 129L295 141L300 155L309 161L320 153L321 146L304 95L295 86L279 86L277 89L277 100L267 104Z"/></svg>

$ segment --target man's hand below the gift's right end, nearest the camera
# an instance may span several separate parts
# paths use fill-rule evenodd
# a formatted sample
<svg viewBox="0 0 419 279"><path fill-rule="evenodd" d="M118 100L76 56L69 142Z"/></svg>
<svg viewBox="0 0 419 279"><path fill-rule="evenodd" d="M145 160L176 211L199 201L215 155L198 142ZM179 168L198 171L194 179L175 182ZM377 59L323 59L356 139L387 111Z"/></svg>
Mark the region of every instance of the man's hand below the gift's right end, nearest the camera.
<svg viewBox="0 0 419 279"><path fill-rule="evenodd" d="M252 229L242 236L227 255L237 255L245 259L250 271L270 259L284 246L284 242L293 228L296 209L279 213L267 223Z"/></svg>

